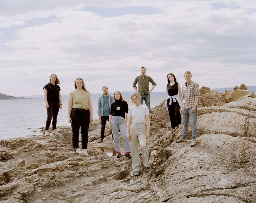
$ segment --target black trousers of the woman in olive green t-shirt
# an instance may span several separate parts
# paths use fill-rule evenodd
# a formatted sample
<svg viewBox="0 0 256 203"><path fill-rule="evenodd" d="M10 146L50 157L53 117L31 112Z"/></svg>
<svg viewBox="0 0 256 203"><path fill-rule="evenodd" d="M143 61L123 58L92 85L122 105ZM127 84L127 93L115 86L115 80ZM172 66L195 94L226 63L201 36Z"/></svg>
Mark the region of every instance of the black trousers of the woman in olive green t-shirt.
<svg viewBox="0 0 256 203"><path fill-rule="evenodd" d="M72 146L79 148L79 129L81 127L81 141L82 148L87 149L88 144L88 131L90 125L90 111L81 108L72 108L70 113L72 119Z"/></svg>

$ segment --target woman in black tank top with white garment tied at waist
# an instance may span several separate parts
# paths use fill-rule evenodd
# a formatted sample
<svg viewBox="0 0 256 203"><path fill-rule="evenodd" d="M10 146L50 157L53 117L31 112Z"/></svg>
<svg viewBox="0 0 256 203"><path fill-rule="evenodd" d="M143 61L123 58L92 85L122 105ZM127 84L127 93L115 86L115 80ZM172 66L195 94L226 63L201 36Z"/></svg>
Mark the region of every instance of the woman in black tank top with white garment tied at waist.
<svg viewBox="0 0 256 203"><path fill-rule="evenodd" d="M167 108L170 116L171 127L172 129L175 129L176 126L181 124L181 87L180 84L177 83L176 77L173 73L167 74L167 82L166 91L169 95L168 97L170 97L167 99ZM171 103L171 105L169 103Z"/></svg>

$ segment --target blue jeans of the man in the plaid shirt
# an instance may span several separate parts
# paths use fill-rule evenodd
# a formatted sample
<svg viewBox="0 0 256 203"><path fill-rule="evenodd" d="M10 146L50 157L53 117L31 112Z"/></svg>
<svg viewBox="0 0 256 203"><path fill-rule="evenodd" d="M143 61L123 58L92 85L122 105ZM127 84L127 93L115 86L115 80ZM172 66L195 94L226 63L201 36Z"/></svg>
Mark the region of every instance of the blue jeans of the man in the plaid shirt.
<svg viewBox="0 0 256 203"><path fill-rule="evenodd" d="M196 139L197 134L197 107L194 113L191 112L191 108L183 108L183 118L182 118L182 125L183 125L183 132L182 137L187 138L187 131L188 131L188 122L190 118L191 127L192 127L192 139Z"/></svg>

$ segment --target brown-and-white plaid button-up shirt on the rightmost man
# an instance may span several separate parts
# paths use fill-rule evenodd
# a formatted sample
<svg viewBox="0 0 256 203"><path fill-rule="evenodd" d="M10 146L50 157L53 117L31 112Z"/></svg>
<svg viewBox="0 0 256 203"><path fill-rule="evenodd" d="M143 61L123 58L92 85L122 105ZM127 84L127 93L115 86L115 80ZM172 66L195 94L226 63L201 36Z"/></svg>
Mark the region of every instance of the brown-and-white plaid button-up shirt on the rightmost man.
<svg viewBox="0 0 256 203"><path fill-rule="evenodd" d="M184 108L191 108L194 105L194 100L199 97L199 85L192 80L187 82L182 87L182 100Z"/></svg>

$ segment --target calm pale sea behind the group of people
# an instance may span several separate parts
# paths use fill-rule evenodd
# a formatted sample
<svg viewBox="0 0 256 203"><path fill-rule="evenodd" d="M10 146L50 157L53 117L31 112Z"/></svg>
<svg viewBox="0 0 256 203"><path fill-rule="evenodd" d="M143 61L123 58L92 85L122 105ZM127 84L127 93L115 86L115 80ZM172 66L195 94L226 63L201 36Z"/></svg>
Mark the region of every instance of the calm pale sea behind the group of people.
<svg viewBox="0 0 256 203"><path fill-rule="evenodd" d="M133 106L130 97L124 99L129 106ZM160 105L165 99L166 96L151 96L150 107ZM68 99L63 98L62 103L63 108L59 110L57 126L70 125L67 113ZM98 119L97 103L98 97L92 97L94 119ZM47 118L44 99L0 100L0 112L0 140L39 134L38 130L33 130L44 127Z"/></svg>

